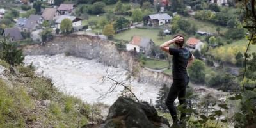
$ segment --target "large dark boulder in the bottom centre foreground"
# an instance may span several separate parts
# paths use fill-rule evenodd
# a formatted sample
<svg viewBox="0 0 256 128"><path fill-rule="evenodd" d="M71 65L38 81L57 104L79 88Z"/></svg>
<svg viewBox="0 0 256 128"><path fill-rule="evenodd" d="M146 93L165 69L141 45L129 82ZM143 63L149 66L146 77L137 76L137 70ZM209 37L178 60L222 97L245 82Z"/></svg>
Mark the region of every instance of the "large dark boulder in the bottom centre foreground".
<svg viewBox="0 0 256 128"><path fill-rule="evenodd" d="M138 127L138 128L157 128L170 127L168 120L158 116L157 111L147 102L135 102L128 97L119 97L116 102L109 108L108 117L101 124L88 124L86 128L121 128L121 127Z"/></svg>

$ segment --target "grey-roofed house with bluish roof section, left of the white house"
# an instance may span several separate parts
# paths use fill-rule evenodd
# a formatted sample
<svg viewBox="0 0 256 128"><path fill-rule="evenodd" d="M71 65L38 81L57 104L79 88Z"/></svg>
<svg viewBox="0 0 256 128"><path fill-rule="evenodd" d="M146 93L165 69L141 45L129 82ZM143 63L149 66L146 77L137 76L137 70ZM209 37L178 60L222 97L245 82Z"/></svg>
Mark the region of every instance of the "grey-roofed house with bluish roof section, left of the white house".
<svg viewBox="0 0 256 128"><path fill-rule="evenodd" d="M42 24L44 19L40 15L30 15L28 19L20 18L16 22L16 26L20 29L20 31L33 31L38 28Z"/></svg>

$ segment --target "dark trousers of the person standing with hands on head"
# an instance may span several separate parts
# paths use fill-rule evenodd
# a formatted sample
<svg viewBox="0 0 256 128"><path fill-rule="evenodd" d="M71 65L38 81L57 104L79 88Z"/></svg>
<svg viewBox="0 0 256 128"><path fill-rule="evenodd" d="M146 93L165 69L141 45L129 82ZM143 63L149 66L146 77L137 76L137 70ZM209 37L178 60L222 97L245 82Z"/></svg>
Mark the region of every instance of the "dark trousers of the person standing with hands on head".
<svg viewBox="0 0 256 128"><path fill-rule="evenodd" d="M179 103L182 104L182 108L186 109L186 86L188 86L189 77L182 77L181 79L173 79L172 86L166 99L166 106L168 107L172 116L173 122L178 120L177 111L174 101L178 97ZM182 112L180 119L186 118L186 113Z"/></svg>

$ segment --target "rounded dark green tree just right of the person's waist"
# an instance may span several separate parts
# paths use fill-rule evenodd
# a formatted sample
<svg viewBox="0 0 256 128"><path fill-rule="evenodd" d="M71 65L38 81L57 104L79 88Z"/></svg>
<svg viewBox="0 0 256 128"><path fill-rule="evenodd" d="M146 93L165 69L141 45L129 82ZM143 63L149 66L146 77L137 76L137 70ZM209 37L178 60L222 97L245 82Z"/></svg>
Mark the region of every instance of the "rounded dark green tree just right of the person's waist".
<svg viewBox="0 0 256 128"><path fill-rule="evenodd" d="M195 83L204 83L205 79L205 63L195 59L191 67L188 68L189 78Z"/></svg>

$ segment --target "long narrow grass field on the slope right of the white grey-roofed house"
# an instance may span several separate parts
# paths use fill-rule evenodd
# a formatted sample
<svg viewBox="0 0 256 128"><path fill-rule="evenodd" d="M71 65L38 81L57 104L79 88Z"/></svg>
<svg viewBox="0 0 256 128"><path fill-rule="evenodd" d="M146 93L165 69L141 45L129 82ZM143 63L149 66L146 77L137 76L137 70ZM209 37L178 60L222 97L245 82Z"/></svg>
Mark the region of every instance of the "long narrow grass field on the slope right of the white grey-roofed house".
<svg viewBox="0 0 256 128"><path fill-rule="evenodd" d="M197 20L197 19L192 19L191 17L183 17L181 16L182 19L186 19L189 22L191 22L192 24L195 24L198 28L199 31L207 31L209 33L217 33L216 28L219 26L217 24L213 24L211 22L208 21L204 21L204 20ZM225 31L227 31L227 28L223 27L223 26L219 26L221 28L220 33L224 33Z"/></svg>

